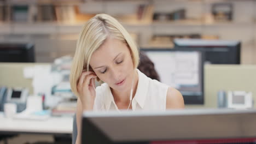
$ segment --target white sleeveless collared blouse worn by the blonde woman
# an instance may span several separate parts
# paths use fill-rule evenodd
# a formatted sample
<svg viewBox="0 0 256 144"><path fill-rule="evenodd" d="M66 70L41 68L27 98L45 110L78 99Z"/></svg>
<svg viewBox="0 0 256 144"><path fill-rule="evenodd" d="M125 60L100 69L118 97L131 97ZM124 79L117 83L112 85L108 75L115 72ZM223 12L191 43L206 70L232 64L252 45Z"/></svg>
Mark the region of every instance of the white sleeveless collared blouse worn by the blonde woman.
<svg viewBox="0 0 256 144"><path fill-rule="evenodd" d="M168 86L157 80L152 80L138 72L138 86L132 99L132 110L166 110L166 95ZM107 83L96 87L94 111L118 110L112 92Z"/></svg>

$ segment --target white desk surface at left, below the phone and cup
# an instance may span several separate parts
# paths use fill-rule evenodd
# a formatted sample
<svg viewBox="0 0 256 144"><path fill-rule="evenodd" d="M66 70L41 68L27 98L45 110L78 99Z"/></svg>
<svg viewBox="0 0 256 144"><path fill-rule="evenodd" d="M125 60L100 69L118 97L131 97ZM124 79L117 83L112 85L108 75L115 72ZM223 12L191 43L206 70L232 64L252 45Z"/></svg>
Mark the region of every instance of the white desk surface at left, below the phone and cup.
<svg viewBox="0 0 256 144"><path fill-rule="evenodd" d="M14 133L72 134L72 117L50 117L45 121L5 118L0 113L0 131Z"/></svg>

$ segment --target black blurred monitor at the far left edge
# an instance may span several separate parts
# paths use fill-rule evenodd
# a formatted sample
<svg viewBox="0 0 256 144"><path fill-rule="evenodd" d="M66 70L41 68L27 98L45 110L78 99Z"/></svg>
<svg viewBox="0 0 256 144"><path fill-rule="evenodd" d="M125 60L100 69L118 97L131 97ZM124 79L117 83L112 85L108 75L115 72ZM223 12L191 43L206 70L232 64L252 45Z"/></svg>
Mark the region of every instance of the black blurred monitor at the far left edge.
<svg viewBox="0 0 256 144"><path fill-rule="evenodd" d="M35 62L33 44L0 43L0 62Z"/></svg>

